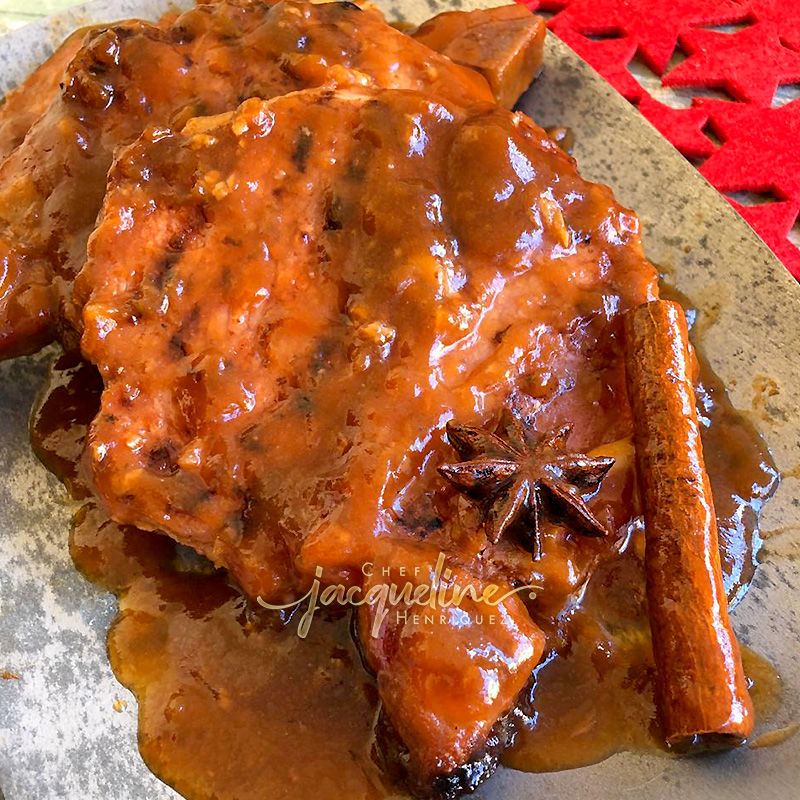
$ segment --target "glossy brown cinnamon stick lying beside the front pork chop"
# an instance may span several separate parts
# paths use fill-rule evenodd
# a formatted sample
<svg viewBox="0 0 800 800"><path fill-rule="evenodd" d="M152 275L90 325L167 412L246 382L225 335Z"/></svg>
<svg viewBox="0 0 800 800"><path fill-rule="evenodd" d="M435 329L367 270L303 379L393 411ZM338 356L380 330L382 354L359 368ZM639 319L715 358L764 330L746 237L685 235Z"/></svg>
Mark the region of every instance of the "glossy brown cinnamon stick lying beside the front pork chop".
<svg viewBox="0 0 800 800"><path fill-rule="evenodd" d="M722 583L686 318L657 300L624 325L664 734L677 749L731 747L752 733L753 706Z"/></svg>

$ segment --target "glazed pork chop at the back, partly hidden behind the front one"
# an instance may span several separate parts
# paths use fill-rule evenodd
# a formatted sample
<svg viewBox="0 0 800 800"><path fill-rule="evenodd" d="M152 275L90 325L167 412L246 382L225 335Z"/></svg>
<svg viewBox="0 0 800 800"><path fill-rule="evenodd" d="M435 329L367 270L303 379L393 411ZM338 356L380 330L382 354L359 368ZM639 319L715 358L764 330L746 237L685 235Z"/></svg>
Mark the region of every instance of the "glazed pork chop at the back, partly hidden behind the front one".
<svg viewBox="0 0 800 800"><path fill-rule="evenodd" d="M531 15L528 24L541 30ZM35 78L47 84L43 98L75 45L71 40ZM34 352L59 326L66 344L74 343L71 282L117 147L148 125L180 127L251 96L347 84L493 102L477 72L352 3L226 0L160 25L128 22L92 34L69 63L63 89L0 166L0 358ZM4 134L8 147L19 133Z"/></svg>

